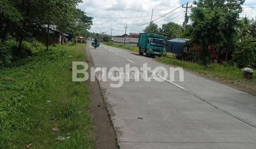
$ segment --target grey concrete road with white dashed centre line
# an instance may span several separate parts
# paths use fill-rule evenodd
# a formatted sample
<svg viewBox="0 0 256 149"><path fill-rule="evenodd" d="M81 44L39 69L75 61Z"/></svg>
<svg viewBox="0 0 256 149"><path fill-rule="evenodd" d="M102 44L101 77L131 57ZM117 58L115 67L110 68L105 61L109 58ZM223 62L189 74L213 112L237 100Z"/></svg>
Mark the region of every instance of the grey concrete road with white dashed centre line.
<svg viewBox="0 0 256 149"><path fill-rule="evenodd" d="M102 45L102 44L101 44ZM104 47L103 47L104 46ZM95 67L170 66L102 45ZM184 72L184 82L100 82L121 148L256 148L256 97ZM168 79L169 77L167 77Z"/></svg>

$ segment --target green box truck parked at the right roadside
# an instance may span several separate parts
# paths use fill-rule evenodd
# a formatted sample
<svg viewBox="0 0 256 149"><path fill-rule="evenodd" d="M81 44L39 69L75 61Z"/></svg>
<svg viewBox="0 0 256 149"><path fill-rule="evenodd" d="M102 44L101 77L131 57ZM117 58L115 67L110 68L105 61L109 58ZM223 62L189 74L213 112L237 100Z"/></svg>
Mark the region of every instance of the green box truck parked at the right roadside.
<svg viewBox="0 0 256 149"><path fill-rule="evenodd" d="M164 36L149 33L139 33L139 55L161 57L164 54Z"/></svg>

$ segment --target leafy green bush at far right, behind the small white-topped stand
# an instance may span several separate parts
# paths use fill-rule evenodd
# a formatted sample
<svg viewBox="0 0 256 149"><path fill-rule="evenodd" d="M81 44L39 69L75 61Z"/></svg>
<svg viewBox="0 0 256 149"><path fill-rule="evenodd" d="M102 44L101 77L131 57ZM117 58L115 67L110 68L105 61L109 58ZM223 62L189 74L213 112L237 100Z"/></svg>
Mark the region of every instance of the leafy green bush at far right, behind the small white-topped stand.
<svg viewBox="0 0 256 149"><path fill-rule="evenodd" d="M254 64L255 46L250 41L251 37L249 35L246 35L241 39L240 42L237 43L237 47L234 51L232 61L238 65L239 70L246 66L251 67Z"/></svg>

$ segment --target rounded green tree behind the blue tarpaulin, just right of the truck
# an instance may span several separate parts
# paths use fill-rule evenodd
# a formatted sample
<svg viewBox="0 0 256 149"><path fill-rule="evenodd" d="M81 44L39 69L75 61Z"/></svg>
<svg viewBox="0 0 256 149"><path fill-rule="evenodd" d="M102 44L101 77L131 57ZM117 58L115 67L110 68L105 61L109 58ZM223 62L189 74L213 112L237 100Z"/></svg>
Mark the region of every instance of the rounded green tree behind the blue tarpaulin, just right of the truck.
<svg viewBox="0 0 256 149"><path fill-rule="evenodd" d="M165 40L180 38L182 34L182 27L174 22L169 22L162 25L159 29L159 34L165 36Z"/></svg>

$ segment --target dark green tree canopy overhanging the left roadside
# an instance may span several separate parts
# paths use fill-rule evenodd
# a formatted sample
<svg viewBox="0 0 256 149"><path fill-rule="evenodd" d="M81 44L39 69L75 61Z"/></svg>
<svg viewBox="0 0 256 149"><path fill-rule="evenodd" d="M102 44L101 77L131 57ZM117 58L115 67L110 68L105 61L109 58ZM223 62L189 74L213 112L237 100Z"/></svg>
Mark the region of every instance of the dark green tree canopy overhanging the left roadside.
<svg viewBox="0 0 256 149"><path fill-rule="evenodd" d="M1 0L0 42L16 38L17 52L24 39L37 37L36 31L47 25L57 26L61 33L87 36L92 17L76 6L82 0ZM62 42L63 43L63 42ZM1 56L1 55L0 55Z"/></svg>

